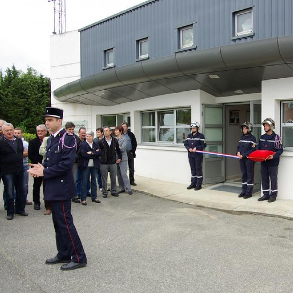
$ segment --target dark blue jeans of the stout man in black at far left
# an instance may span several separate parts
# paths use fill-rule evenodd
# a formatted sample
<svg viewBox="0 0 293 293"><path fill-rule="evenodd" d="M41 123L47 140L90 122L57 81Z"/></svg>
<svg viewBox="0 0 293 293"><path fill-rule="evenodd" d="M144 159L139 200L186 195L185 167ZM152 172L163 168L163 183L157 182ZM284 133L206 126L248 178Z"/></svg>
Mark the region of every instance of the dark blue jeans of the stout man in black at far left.
<svg viewBox="0 0 293 293"><path fill-rule="evenodd" d="M25 171L2 175L6 193L7 215L25 211ZM16 188L15 210L13 190Z"/></svg>

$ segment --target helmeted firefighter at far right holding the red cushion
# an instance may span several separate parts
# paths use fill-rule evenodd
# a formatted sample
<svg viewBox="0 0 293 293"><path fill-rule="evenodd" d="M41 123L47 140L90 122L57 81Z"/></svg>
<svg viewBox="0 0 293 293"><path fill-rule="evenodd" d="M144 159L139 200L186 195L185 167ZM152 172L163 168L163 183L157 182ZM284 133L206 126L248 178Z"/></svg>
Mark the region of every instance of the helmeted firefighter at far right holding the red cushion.
<svg viewBox="0 0 293 293"><path fill-rule="evenodd" d="M260 137L257 148L274 151L275 154L270 155L266 161L260 162L263 196L258 201L268 200L268 202L274 202L278 194L278 165L280 156L283 153L283 146L280 136L273 131L275 129L275 121L271 118L266 118L263 120L262 125L265 134Z"/></svg>

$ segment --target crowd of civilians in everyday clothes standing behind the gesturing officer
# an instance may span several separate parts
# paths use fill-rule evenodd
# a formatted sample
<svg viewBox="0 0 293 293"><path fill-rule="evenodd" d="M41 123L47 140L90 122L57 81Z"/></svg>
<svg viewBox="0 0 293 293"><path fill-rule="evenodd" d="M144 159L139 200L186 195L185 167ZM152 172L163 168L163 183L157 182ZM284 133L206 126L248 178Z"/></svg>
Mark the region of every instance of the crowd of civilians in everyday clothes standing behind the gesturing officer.
<svg viewBox="0 0 293 293"><path fill-rule="evenodd" d="M97 128L96 137L92 131L87 131L85 127L81 127L78 130L78 135L76 135L73 122L67 122L64 129L66 132L72 133L76 139L76 155L73 166L76 194L72 198L72 202L87 205L87 197L91 197L92 202L100 203L98 191L102 193L103 197L108 197L109 191L114 197L118 197L120 193L124 192L132 195L131 185L136 185L134 182L134 158L137 141L134 134L128 130L126 122L115 127L114 130L111 130L110 127ZM7 154L7 156L2 155L0 159L2 177L4 176L2 178L4 183L3 199L4 207L7 210L7 219L13 219L14 214L27 216L28 213L25 212L23 201L21 200L20 205L19 198L25 196L24 205L34 204L34 209L40 210L40 189L42 187L43 193L45 193L46 185L43 176L33 177L33 203L28 200L28 159L32 164L44 163L47 141L52 136L52 132L49 131L49 136L47 136L46 125L40 124L36 127L37 137L26 142L22 137L23 130L20 127L14 128L12 124L0 120L0 130L0 136L3 140L0 147L4 148ZM23 149L19 143L20 140ZM8 147L9 144L12 148ZM10 153L14 154L15 151L18 156L18 163L22 152L23 166L16 164L13 169L9 169L8 166L13 166L17 161L16 158L9 155ZM128 166L129 177L127 176ZM23 170L21 170L22 167ZM9 176L6 175L7 172ZM108 173L110 174L110 189L108 188ZM8 177L10 178L9 184ZM20 191L23 189L24 191ZM20 192L21 196L19 196ZM50 215L52 212L50 201L44 200L44 206L44 215Z"/></svg>

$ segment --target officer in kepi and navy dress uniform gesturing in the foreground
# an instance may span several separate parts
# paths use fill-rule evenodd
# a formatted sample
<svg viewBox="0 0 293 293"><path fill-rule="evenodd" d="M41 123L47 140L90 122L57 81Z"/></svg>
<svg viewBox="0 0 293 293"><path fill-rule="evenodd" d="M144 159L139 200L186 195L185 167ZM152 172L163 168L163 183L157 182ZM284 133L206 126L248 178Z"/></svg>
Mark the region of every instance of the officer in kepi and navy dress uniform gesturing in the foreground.
<svg viewBox="0 0 293 293"><path fill-rule="evenodd" d="M53 134L47 141L43 165L31 164L31 176L44 176L45 200L50 200L56 233L57 255L46 264L65 263L61 270L73 270L86 265L86 255L71 215L71 198L76 189L72 167L76 153L76 139L62 127L63 110L47 107L45 124Z"/></svg>

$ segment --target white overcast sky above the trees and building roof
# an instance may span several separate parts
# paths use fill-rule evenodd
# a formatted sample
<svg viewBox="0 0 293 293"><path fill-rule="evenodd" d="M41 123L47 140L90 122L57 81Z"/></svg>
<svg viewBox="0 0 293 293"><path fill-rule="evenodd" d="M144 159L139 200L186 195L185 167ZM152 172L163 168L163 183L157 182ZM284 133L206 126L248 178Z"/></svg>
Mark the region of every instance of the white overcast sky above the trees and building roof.
<svg viewBox="0 0 293 293"><path fill-rule="evenodd" d="M56 4L57 4L56 0ZM66 29L77 30L144 0L66 0ZM28 66L50 77L50 35L53 2L2 0L0 8L0 69ZM58 24L58 22L56 21ZM58 33L58 27L56 27Z"/></svg>

